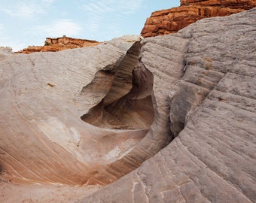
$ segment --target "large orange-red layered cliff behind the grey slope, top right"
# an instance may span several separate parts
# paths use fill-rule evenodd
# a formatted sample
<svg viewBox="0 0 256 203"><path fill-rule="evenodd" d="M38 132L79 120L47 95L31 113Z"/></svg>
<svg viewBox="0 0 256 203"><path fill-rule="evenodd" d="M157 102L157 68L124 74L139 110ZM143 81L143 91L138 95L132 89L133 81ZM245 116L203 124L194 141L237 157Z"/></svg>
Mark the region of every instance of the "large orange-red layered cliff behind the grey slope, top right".
<svg viewBox="0 0 256 203"><path fill-rule="evenodd" d="M152 13L141 33L144 38L167 35L203 18L229 16L254 7L254 0L181 0L178 8Z"/></svg>

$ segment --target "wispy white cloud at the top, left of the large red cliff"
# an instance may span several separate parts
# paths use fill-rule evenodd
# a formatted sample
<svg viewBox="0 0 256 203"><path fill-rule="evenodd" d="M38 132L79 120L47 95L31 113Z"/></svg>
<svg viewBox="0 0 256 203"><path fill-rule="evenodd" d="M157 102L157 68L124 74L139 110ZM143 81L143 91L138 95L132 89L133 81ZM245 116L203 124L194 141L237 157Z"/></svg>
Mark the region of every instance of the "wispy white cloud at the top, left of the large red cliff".
<svg viewBox="0 0 256 203"><path fill-rule="evenodd" d="M87 12L90 18L87 20L87 28L96 32L102 23L117 25L122 20L138 11L142 7L143 0L89 0L82 9Z"/></svg>

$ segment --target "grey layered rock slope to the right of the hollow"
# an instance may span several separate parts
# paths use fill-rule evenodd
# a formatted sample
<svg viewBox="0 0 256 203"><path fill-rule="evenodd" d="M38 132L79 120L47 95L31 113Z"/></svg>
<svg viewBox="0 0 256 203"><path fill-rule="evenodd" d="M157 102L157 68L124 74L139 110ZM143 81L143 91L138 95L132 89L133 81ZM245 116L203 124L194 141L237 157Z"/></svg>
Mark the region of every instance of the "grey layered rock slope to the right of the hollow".
<svg viewBox="0 0 256 203"><path fill-rule="evenodd" d="M169 112L175 139L78 202L254 202L255 17L253 9L200 20L142 41L140 57L157 79L155 120Z"/></svg>

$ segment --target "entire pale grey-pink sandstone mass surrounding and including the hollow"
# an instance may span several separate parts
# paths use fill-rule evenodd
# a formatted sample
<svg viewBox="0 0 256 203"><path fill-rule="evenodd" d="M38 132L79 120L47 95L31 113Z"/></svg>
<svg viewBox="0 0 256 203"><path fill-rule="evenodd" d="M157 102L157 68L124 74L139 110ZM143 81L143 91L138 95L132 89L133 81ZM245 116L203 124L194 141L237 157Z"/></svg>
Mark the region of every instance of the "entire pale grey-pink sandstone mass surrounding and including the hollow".
<svg viewBox="0 0 256 203"><path fill-rule="evenodd" d="M0 59L2 174L111 183L78 202L253 202L255 14L142 41L8 52Z"/></svg>

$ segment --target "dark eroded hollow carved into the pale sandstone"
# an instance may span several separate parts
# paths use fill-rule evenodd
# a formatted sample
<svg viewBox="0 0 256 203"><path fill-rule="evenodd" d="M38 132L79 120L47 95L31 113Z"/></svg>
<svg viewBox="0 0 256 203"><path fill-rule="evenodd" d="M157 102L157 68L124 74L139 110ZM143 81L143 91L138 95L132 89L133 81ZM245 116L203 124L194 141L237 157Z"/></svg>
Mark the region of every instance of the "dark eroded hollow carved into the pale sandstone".
<svg viewBox="0 0 256 203"><path fill-rule="evenodd" d="M153 74L139 59L136 42L112 71L98 71L81 94L102 97L102 101L81 119L93 126L112 129L149 129L154 120ZM93 95L92 95L93 94Z"/></svg>

